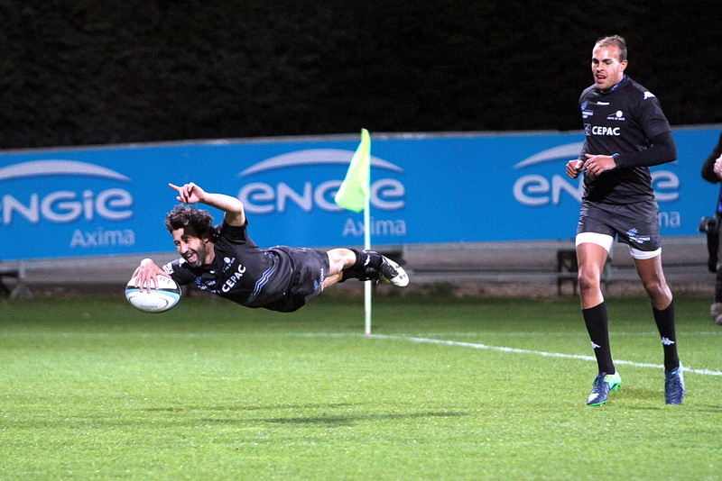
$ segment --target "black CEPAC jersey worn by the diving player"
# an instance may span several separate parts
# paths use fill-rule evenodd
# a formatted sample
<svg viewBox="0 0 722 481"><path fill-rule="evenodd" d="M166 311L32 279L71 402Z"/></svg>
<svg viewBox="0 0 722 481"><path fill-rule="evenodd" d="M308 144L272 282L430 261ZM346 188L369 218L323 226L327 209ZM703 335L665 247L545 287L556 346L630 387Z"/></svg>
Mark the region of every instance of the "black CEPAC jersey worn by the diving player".
<svg viewBox="0 0 722 481"><path fill-rule="evenodd" d="M193 284L247 307L277 301L291 282L292 260L281 250L256 246L247 226L224 222L216 227L216 255L207 266L193 268L185 259L175 259L163 270L181 286Z"/></svg>

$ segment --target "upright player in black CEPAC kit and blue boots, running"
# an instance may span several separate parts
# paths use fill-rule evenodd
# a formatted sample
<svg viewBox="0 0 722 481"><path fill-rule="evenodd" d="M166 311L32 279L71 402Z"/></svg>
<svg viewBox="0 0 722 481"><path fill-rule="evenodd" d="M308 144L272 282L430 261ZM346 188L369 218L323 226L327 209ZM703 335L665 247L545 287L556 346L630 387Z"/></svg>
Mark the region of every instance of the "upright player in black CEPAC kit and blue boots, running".
<svg viewBox="0 0 722 481"><path fill-rule="evenodd" d="M585 142L567 175L584 175L577 259L582 316L597 358L598 373L588 405L606 403L622 385L609 345L606 304L600 282L612 243L627 244L652 302L664 353L664 397L680 404L685 386L677 355L674 302L662 272L658 206L650 166L677 158L671 127L657 98L625 75L625 39L609 36L592 50L594 85L579 97Z"/></svg>

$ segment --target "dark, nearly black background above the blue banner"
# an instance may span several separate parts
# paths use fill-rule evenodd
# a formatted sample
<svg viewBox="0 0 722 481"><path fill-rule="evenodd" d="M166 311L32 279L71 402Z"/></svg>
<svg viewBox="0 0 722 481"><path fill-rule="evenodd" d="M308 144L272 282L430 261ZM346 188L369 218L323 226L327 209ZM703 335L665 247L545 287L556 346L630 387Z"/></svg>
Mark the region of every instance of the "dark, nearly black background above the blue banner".
<svg viewBox="0 0 722 481"><path fill-rule="evenodd" d="M722 2L2 0L0 148L578 130L594 41L722 123Z"/></svg>

